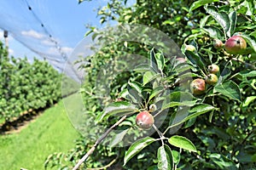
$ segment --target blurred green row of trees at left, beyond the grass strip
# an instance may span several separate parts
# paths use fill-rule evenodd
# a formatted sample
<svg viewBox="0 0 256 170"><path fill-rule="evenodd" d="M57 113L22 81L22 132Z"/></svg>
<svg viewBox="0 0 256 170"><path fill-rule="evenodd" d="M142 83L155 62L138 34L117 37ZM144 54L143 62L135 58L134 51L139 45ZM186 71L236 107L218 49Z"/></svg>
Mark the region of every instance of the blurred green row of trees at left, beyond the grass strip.
<svg viewBox="0 0 256 170"><path fill-rule="evenodd" d="M9 57L0 42L0 119L12 121L27 111L61 99L61 74L46 61Z"/></svg>

